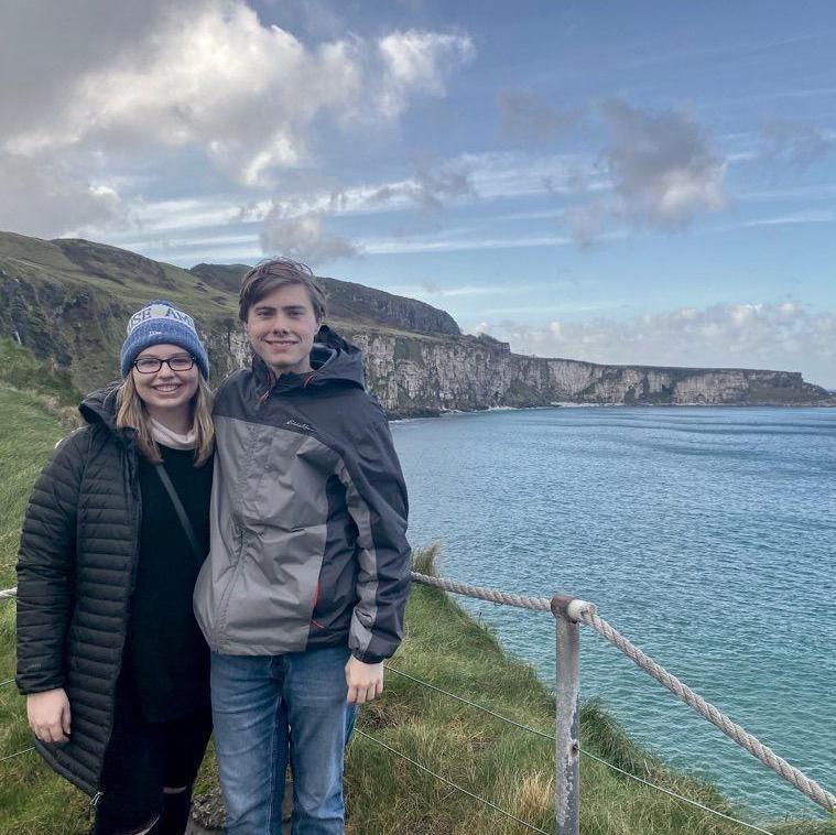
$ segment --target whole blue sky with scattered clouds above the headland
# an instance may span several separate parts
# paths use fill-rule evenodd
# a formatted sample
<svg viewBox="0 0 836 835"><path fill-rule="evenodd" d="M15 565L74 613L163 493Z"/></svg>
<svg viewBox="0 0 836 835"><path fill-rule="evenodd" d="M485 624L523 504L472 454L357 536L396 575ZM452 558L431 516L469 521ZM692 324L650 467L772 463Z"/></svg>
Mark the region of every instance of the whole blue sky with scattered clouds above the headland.
<svg viewBox="0 0 836 835"><path fill-rule="evenodd" d="M0 228L836 388L832 3L65 7L0 11Z"/></svg>

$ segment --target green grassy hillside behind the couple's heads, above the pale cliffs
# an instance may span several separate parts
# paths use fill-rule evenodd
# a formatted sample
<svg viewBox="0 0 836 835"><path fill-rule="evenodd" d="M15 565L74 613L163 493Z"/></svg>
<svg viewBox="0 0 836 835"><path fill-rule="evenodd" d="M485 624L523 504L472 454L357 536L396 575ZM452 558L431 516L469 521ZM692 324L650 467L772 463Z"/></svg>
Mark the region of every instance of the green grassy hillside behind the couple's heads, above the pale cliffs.
<svg viewBox="0 0 836 835"><path fill-rule="evenodd" d="M86 240L54 241L0 231L0 335L14 332L36 356L66 369L89 391L118 376L128 317L152 299L169 299L194 316L209 354L213 379L237 367L241 264L203 264L202 273ZM350 282L324 279L328 324L358 330L433 338L411 324L437 324L457 334L444 312ZM446 328L446 329L445 329ZM423 328L426 329L426 328ZM430 330L433 328L430 327Z"/></svg>

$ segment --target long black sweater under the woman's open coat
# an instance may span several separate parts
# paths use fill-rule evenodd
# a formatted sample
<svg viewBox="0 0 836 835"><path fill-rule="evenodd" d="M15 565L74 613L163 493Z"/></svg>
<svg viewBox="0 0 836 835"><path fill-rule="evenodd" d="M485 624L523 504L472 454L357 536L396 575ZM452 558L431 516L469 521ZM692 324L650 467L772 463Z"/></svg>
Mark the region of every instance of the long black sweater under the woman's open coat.
<svg viewBox="0 0 836 835"><path fill-rule="evenodd" d="M193 451L160 449L205 555L213 463L195 467ZM203 557L189 545L155 466L144 458L139 481L142 524L122 683L134 686L148 722L170 722L209 700L209 651L192 612Z"/></svg>

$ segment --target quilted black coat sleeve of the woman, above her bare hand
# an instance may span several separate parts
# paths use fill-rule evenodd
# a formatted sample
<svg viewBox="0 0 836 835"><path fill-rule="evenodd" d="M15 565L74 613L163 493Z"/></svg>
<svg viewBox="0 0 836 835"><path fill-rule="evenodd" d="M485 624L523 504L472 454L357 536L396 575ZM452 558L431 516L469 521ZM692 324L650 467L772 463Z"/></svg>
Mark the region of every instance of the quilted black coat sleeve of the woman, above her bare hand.
<svg viewBox="0 0 836 835"><path fill-rule="evenodd" d="M89 432L61 442L35 481L18 556L18 688L64 686L65 639L73 601L76 511Z"/></svg>

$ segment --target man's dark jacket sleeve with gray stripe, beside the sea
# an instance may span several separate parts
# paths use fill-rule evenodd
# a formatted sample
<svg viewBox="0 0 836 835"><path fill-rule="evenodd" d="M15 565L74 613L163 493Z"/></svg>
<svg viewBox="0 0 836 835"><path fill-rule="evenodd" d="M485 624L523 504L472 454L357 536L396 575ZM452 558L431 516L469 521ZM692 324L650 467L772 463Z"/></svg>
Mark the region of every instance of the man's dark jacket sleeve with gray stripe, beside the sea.
<svg viewBox="0 0 836 835"><path fill-rule="evenodd" d="M410 590L409 503L401 465L382 413L345 455L348 511L357 525L357 604L348 646L360 661L391 657L403 636Z"/></svg>

